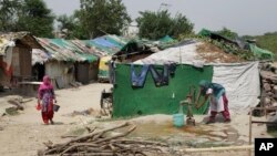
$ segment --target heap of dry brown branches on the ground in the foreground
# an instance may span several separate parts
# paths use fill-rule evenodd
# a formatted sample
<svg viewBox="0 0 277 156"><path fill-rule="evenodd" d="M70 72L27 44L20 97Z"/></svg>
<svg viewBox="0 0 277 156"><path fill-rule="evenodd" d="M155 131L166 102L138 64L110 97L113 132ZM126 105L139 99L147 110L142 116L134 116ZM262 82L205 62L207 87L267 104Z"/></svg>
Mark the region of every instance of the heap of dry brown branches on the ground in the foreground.
<svg viewBox="0 0 277 156"><path fill-rule="evenodd" d="M123 132L121 128L130 127ZM147 156L168 155L168 145L158 142L125 139L135 129L135 125L124 123L112 128L93 131L63 144L44 143L48 147L39 150L39 156ZM120 129L121 133L109 135Z"/></svg>

